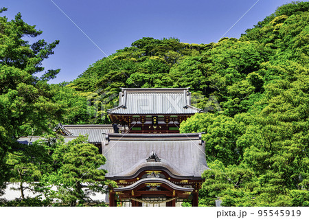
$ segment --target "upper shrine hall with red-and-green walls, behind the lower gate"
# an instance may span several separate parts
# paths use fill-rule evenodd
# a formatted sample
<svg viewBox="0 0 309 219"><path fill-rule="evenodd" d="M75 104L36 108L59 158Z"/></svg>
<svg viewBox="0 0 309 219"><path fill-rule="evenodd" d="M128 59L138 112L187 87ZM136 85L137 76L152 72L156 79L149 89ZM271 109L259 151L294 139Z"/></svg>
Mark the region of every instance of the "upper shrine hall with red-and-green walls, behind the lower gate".
<svg viewBox="0 0 309 219"><path fill-rule="evenodd" d="M108 115L128 133L179 133L183 120L201 112L190 104L187 88L122 89L119 106L108 110Z"/></svg>

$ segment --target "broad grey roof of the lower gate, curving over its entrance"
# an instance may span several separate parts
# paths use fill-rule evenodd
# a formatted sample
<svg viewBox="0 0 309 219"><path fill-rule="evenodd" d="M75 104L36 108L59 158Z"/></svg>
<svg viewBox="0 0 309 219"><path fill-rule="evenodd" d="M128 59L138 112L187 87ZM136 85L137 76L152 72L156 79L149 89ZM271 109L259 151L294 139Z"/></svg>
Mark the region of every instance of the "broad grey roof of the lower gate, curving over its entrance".
<svg viewBox="0 0 309 219"><path fill-rule="evenodd" d="M147 162L150 152L160 162ZM175 176L201 178L207 170L205 144L201 133L194 134L108 134L102 144L106 178L133 176L141 168L165 168Z"/></svg>

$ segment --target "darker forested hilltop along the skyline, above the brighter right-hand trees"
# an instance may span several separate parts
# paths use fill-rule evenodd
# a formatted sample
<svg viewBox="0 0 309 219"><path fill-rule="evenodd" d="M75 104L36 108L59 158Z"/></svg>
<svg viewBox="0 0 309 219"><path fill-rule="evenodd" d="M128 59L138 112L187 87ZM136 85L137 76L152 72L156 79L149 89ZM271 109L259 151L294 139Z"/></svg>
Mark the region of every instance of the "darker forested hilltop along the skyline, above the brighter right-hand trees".
<svg viewBox="0 0 309 219"><path fill-rule="evenodd" d="M98 89L109 101L120 87L191 87L193 95L199 94L198 107L204 108L214 95L224 115L233 117L249 111L262 98L267 84L288 79L291 73L294 77L295 72L305 71L306 65L308 3L294 3L278 8L240 39L222 38L218 43L198 45L175 38L142 38L95 62L61 88L58 98L69 100L66 123L108 124L104 119L91 121L82 103ZM78 101L72 102L72 98Z"/></svg>

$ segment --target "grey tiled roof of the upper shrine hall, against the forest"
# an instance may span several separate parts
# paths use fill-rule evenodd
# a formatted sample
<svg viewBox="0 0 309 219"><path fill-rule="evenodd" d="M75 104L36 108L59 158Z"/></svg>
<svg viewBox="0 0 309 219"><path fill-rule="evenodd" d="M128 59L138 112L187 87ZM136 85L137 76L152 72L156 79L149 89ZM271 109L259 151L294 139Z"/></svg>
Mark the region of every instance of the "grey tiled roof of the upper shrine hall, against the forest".
<svg viewBox="0 0 309 219"><path fill-rule="evenodd" d="M128 89L119 93L119 106L108 110L121 115L186 115L199 113L191 104L188 88L181 89Z"/></svg>

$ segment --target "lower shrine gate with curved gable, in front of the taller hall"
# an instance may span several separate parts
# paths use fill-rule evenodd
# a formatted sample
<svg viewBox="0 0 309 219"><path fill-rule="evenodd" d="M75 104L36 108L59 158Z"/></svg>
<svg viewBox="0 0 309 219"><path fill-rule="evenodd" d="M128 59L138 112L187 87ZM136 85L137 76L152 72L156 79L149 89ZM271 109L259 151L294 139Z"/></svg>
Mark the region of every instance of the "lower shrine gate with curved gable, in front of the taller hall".
<svg viewBox="0 0 309 219"><path fill-rule="evenodd" d="M117 182L109 193L109 205L130 202L130 206L191 202L198 206L198 190L207 170L201 133L194 134L108 134L106 179Z"/></svg>

